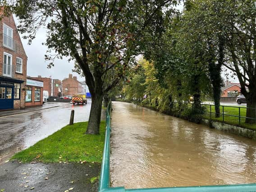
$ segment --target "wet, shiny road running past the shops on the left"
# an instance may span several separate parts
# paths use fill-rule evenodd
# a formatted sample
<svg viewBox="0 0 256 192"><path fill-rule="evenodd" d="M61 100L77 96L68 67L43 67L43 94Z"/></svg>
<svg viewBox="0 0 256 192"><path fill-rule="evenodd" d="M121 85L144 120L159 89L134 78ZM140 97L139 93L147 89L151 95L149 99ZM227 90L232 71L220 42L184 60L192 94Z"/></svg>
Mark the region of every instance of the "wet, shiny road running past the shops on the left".
<svg viewBox="0 0 256 192"><path fill-rule="evenodd" d="M32 146L68 125L72 109L75 110L74 122L88 121L89 119L91 100L88 100L87 105L54 104L60 105L60 107L0 116L0 164L15 152ZM52 103L44 105L50 106Z"/></svg>

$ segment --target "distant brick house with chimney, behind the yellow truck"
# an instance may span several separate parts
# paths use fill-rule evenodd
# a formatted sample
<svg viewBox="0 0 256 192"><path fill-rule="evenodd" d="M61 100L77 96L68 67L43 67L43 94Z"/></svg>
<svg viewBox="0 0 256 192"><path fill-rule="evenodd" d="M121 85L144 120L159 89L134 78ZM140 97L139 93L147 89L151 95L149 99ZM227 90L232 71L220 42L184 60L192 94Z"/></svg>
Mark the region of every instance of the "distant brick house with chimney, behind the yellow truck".
<svg viewBox="0 0 256 192"><path fill-rule="evenodd" d="M69 78L62 80L62 94L63 95L74 95L82 93L82 84L77 80L76 76L72 77L69 74Z"/></svg>

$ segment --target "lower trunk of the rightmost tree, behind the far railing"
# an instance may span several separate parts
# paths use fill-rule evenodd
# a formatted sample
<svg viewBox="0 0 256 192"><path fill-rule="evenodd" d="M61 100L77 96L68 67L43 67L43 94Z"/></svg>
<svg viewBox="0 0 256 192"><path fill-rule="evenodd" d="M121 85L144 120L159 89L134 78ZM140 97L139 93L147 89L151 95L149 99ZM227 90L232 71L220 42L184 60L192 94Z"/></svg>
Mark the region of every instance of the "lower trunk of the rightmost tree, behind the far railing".
<svg viewBox="0 0 256 192"><path fill-rule="evenodd" d="M255 93L248 93L246 96L247 100L247 110L246 110L246 123L256 123L256 94ZM249 119L254 118L254 119Z"/></svg>

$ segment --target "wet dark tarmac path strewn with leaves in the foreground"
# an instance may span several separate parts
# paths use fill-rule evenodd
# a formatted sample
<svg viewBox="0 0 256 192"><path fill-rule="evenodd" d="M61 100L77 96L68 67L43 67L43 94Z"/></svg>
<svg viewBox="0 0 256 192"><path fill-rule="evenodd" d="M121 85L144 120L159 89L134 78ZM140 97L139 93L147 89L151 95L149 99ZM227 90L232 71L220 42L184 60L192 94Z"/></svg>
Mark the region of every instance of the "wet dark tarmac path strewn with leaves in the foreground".
<svg viewBox="0 0 256 192"><path fill-rule="evenodd" d="M0 191L4 192L97 192L99 163L37 163L9 161L0 165ZM1 191L1 192L2 192Z"/></svg>

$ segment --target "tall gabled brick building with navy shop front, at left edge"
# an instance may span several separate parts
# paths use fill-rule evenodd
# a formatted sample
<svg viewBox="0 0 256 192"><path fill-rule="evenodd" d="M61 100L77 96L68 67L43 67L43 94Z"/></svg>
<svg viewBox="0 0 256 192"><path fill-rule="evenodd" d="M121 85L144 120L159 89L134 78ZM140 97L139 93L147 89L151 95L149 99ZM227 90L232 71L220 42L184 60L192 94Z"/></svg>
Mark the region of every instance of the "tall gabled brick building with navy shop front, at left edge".
<svg viewBox="0 0 256 192"><path fill-rule="evenodd" d="M0 20L0 110L25 108L26 76L27 55L9 15Z"/></svg>

